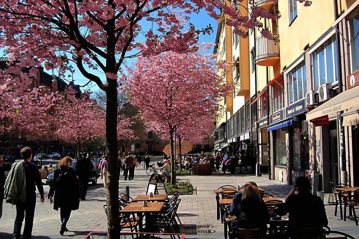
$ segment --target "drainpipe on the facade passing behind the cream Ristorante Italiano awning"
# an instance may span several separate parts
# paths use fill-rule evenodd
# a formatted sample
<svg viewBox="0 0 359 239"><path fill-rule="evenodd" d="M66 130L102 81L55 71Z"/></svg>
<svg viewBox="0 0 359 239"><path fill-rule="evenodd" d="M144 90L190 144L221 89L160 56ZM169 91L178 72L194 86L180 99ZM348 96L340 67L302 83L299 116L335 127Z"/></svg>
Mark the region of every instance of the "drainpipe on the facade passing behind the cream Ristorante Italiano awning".
<svg viewBox="0 0 359 239"><path fill-rule="evenodd" d="M338 19L338 1L334 0L334 19ZM339 94L343 92L343 78L342 78L342 61L341 61L341 44L340 44L340 34L339 34L339 22L336 25L336 39L337 39L337 51L338 51L338 85L339 85ZM345 151L345 131L343 127L343 111L339 113L339 127L340 127L340 168L341 168L341 183L347 183L348 181L348 172L347 172L347 160L346 160L346 151ZM338 125L338 124L337 124Z"/></svg>

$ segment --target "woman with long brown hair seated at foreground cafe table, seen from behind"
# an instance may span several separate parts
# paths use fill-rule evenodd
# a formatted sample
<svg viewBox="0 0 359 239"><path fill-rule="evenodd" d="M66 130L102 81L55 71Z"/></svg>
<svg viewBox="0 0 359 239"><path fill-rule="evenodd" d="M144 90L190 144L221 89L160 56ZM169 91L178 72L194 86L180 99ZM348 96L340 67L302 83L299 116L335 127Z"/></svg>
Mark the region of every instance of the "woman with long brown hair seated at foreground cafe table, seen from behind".
<svg viewBox="0 0 359 239"><path fill-rule="evenodd" d="M234 238L236 228L261 228L263 235L267 232L270 220L268 209L262 200L259 189L250 184L244 188L241 200L235 207L236 223L231 222L229 238Z"/></svg>

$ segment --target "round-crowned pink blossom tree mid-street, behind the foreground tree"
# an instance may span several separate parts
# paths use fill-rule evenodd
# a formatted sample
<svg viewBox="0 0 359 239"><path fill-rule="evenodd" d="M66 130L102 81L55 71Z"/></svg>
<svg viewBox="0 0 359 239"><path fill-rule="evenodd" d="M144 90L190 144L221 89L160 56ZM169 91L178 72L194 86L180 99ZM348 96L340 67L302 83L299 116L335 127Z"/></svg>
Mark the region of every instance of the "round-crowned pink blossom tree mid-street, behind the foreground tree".
<svg viewBox="0 0 359 239"><path fill-rule="evenodd" d="M166 52L139 57L128 70L131 103L156 132L170 136L172 177L176 184L174 132L184 122L195 122L202 115L213 116L217 98L227 94L216 74L214 55ZM224 67L217 63L217 67Z"/></svg>

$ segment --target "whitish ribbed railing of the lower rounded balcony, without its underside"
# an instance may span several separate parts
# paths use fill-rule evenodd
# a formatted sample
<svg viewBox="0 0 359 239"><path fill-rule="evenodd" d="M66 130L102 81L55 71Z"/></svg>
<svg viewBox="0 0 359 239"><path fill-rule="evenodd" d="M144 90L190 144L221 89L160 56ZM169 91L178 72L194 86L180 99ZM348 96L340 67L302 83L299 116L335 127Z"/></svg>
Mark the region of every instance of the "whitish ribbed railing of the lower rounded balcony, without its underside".
<svg viewBox="0 0 359 239"><path fill-rule="evenodd" d="M278 35L273 33L273 37L278 39ZM279 56L279 41L267 39L263 36L259 36L256 39L256 62L260 59Z"/></svg>

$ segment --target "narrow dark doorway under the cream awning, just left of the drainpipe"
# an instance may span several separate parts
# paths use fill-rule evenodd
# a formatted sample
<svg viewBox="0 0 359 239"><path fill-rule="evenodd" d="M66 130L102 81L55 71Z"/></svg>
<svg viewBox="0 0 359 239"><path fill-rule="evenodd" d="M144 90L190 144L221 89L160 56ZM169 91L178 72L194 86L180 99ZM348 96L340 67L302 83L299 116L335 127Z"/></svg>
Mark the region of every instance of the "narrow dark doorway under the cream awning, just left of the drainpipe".
<svg viewBox="0 0 359 239"><path fill-rule="evenodd" d="M337 183L339 183L337 121L330 123L329 134L330 134L329 144L330 144L330 165L331 165L330 180L334 184L337 184Z"/></svg>

